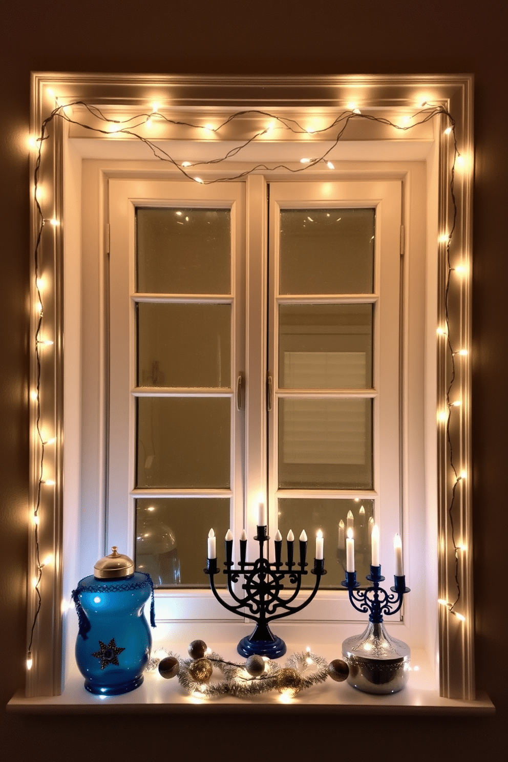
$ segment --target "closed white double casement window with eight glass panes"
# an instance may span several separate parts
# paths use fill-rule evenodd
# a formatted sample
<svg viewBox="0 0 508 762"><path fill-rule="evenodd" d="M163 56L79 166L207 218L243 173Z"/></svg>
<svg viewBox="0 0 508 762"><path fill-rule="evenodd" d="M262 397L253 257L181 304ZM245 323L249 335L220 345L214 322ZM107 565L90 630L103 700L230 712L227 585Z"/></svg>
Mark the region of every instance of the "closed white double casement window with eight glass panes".
<svg viewBox="0 0 508 762"><path fill-rule="evenodd" d="M335 592L318 594L312 618L351 617L340 584L346 526L356 519L362 577L374 516L386 559L388 536L401 532L401 181L256 181L265 192L254 200L252 178L110 178L104 191L107 546L135 554L161 590L205 588L159 592L162 620L203 619L203 610L224 619L203 574L205 539L212 527L222 560L228 527L237 543L243 527L253 537L260 492L271 536L305 529L312 547L324 532L321 591ZM245 268L246 230L256 228L272 235L257 314L246 321L245 279L249 290L256 278ZM257 265L261 255L249 255ZM260 324L264 341L246 358ZM246 422L253 397L262 403L249 405ZM253 477L244 463L266 439L264 471Z"/></svg>

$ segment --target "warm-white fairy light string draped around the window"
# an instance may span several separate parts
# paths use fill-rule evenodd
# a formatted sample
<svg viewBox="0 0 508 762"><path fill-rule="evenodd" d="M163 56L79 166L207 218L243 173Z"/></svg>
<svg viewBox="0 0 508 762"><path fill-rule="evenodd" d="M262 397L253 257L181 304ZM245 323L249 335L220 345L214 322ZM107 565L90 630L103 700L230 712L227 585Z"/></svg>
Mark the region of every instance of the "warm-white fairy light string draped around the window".
<svg viewBox="0 0 508 762"><path fill-rule="evenodd" d="M452 237L455 232L455 226L457 221L457 213L458 213L458 207L457 202L455 199L455 166L457 164L458 158L461 157L460 153L458 152L458 146L457 146L457 139L455 135L455 120L452 117L452 114L449 113L448 110L446 110L443 105L433 105L428 102L424 102L422 104L419 104L419 107L417 107L417 110L414 111L414 114L407 115L405 117L405 121L403 124L395 123L394 121L391 121L387 117L378 117L374 114L366 114L363 113L363 111L360 111L358 107L356 107L356 104L348 104L347 109L343 109L340 111L339 114L331 121L331 123L327 124L327 126L323 126L316 129L308 129L305 128L305 126L302 126L299 121L281 116L280 114L272 114L265 110L258 110L258 109L248 109L248 110L240 110L235 112L234 114L230 114L225 120L223 120L219 125L212 126L212 125L206 125L206 124L200 124L200 123L193 123L190 121L185 120L177 120L177 119L171 119L170 117L166 116L161 110L160 104L153 104L151 111L145 111L141 114L136 114L134 117L129 117L124 120L121 119L111 119L107 117L103 110L101 110L99 107L87 104L85 101L76 100L69 102L68 104L60 104L58 99L55 98L56 101L56 107L50 112L48 117L46 117L45 120L43 120L41 127L40 127L40 136L35 140L35 143L37 145L37 157L34 165L34 204L37 212L37 239L35 243L34 248L34 274L35 274L35 293L37 294L37 309L39 310L39 315L36 322L36 328L35 328L35 335L34 335L34 360L35 360L35 389L31 392L30 396L35 401L36 405L36 413L35 413L35 426L37 430L37 438L38 438L38 446L40 447L40 459L39 459L39 475L38 475L38 481L37 481L37 490L36 494L34 496L34 509L32 511L32 518L34 523L34 566L37 570L37 577L34 579L33 588L35 591L35 594L37 596L37 606L34 610L34 617L30 629L30 639L28 642L28 648L27 648L27 668L30 668L32 665L32 646L34 643L34 632L35 628L37 626L37 619L40 613L40 609L42 607L42 597L40 594L40 584L43 578L43 568L45 563L41 563L40 561L40 536L39 536L39 519L40 519L40 505L41 505L41 491L43 488L43 485L53 485L54 482L50 480L45 480L43 478L44 475L44 467L45 467L45 458L46 458L46 447L48 444L53 443L54 440L44 440L43 438L43 431L41 429L41 402L40 402L40 378L41 378L41 355L40 355L40 349L44 345L51 345L53 344L53 341L50 341L48 339L45 339L42 337L41 331L43 326L43 287L42 287L42 281L40 280L40 259L41 259L41 245L42 245L42 239L43 239L43 229L46 223L50 223L52 226L58 226L60 224L60 221L53 217L52 219L47 219L43 214L43 209L40 204L40 200L37 197L37 191L39 189L40 185L40 170L41 170L41 162L43 157L43 146L47 139L49 139L49 128L50 124L53 122L53 120L60 119L63 120L69 124L73 124L75 126L81 127L85 130L90 130L93 133L96 133L98 135L107 136L111 139L115 139L115 137L118 136L126 136L132 139L139 140L139 142L142 142L146 148L152 152L152 155L155 156L158 160L161 162L166 162L171 164L184 178L186 178L189 181L193 182L199 182L200 184L215 184L219 182L228 182L228 181L238 181L241 180L241 178L245 178L250 174L254 174L256 172L264 171L264 172L275 172L275 171L286 171L289 174L299 174L301 172L308 171L311 168L315 168L317 165L320 165L321 163L324 163L327 165L328 168L334 169L333 163L330 161L330 155L331 152L333 152L334 148L337 146L337 144L340 142L340 139L343 138L344 133L347 130L347 127L349 126L350 122L352 120L367 120L372 123L378 123L381 125L389 126L393 128L394 130L400 130L401 132L407 132L408 130L413 130L415 127L420 126L422 124L425 124L429 122L430 120L435 119L436 117L444 117L445 120L448 123L448 126L445 130L445 133L452 134L453 136L453 161L452 166L450 170L450 181L449 181L449 194L451 199L451 206L452 206L452 220L451 220L451 226L449 229L449 232L446 235L446 290L445 290L445 299L444 299L444 309L445 309L445 323L446 327L443 330L439 331L438 333L445 333L446 334L446 342L447 342L447 348L448 348L448 354L449 354L449 360L450 360L450 377L449 382L446 388L446 407L447 407L447 413L446 413L446 441L448 445L448 451L449 451L449 468L452 471L453 477L455 479L455 482L452 486L452 495L449 501L448 505L448 517L449 517L449 525L451 530L451 539L452 539L452 549L455 554L455 584L456 584L456 597L452 604L449 603L449 601L445 600L439 600L439 603L446 604L446 607L448 608L449 612L452 614L455 614L455 616L458 616L459 619L464 619L464 617L461 614L458 614L455 612L454 608L458 604L458 600L461 597L461 584L459 581L459 573L458 573L458 552L463 549L461 545L459 545L455 539L455 524L454 524L454 507L455 507L455 499L456 499L456 490L460 482L462 482L462 479L464 479L464 475L462 473L459 473L458 470L455 467L455 459L454 459L454 453L453 453L453 446L452 446L452 434L450 431L450 418L452 415L452 408L455 407L453 402L450 402L452 398L452 389L454 388L455 379L456 379L456 371L455 371L455 354L467 354L467 351L461 350L461 351L455 351L452 347L452 341L450 339L450 331L449 331L449 290L450 290L450 284L451 284L451 277L452 273L456 270L455 267L452 267L451 263L451 255L450 255L450 248L452 244ZM91 120L96 120L99 124L94 125L93 123L87 123L86 120L81 120L74 118L72 116L72 109L73 108L81 108L85 110L85 112L89 115ZM229 126L234 120L240 120L244 117L261 117L266 118L268 123L268 126L263 127L262 129L254 130L254 133L248 137L247 139L241 140L241 142L238 142L238 145L233 146L231 149L228 149L227 152L225 152L223 155L220 155L217 158L212 158L206 161L199 161L199 162L182 162L181 160L177 160L174 158L173 155L171 155L167 150L163 149L158 143L156 143L153 139L149 139L145 135L142 135L139 131L139 128L145 127L150 129L150 126L153 126L153 123L155 120L157 120L158 123L166 123L168 125L174 126L174 127L184 127L188 128L190 130L195 130L198 133L198 136L203 136L207 133L213 133L213 138L215 138L221 130L223 131L226 126ZM267 134L273 133L273 130L286 130L289 133L293 133L295 135L303 136L324 136L325 133L330 133L331 130L336 130L333 133L333 136L331 137L331 145L327 146L326 149L324 149L320 155L305 158L299 162L298 166L292 166L292 165L286 165L286 164L277 164L268 166L264 163L259 163L256 165L251 165L247 169L244 169L242 171L234 171L229 174L224 174L220 177L215 178L208 178L203 180L202 178L196 177L193 174L194 168L197 167L205 167L205 166L215 166L215 165L222 165L223 162L226 162L234 157L237 157L239 154L241 154L244 149L247 149L248 146L250 146L253 142L262 139ZM161 141L165 141L166 137L161 137ZM217 144L220 146L220 139L217 142ZM327 142L330 142L327 139ZM312 145L312 144L311 144Z"/></svg>

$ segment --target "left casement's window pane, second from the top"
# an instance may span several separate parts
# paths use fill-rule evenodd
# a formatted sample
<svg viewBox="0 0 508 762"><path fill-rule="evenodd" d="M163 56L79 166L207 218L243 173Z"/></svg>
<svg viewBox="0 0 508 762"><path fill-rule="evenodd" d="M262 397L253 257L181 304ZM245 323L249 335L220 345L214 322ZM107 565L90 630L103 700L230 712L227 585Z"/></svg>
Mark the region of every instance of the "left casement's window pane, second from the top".
<svg viewBox="0 0 508 762"><path fill-rule="evenodd" d="M231 386L231 305L137 306L138 386Z"/></svg>

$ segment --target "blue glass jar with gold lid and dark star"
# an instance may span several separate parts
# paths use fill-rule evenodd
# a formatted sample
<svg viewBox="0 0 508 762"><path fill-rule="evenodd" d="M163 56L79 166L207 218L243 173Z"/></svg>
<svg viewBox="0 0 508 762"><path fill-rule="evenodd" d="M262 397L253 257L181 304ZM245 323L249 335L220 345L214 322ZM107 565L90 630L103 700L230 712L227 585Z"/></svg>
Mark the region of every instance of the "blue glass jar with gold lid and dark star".
<svg viewBox="0 0 508 762"><path fill-rule="evenodd" d="M116 547L72 591L79 620L76 662L90 693L117 696L142 684L152 648L144 614L149 597L153 627L152 579L135 572L131 559Z"/></svg>

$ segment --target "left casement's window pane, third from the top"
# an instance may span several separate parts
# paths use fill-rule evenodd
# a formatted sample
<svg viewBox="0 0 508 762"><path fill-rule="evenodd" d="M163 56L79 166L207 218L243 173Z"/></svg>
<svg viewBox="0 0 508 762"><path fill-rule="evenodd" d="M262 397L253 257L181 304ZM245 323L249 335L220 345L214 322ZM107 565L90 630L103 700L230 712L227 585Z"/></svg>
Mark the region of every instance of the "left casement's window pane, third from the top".
<svg viewBox="0 0 508 762"><path fill-rule="evenodd" d="M229 488L228 397L139 397L136 403L136 487Z"/></svg>

